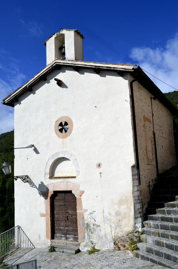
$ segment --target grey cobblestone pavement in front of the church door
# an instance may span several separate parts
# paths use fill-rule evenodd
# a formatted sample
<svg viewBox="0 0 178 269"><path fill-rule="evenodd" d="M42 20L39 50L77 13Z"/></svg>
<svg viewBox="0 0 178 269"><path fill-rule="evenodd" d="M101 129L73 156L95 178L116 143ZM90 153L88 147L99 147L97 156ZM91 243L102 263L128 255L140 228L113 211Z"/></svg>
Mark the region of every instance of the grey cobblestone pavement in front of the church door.
<svg viewBox="0 0 178 269"><path fill-rule="evenodd" d="M100 250L88 255L82 251L78 254L60 252L49 253L46 249L18 249L5 259L9 265L29 260L37 260L37 268L165 268L154 263L128 256L126 251Z"/></svg>

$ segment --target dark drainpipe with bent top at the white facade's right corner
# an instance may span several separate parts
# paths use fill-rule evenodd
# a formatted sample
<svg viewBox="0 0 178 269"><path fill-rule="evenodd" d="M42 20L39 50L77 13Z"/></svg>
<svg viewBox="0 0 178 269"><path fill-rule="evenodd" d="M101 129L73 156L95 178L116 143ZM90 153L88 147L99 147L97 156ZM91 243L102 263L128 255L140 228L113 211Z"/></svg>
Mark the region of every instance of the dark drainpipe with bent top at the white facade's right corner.
<svg viewBox="0 0 178 269"><path fill-rule="evenodd" d="M138 150L138 141L137 141L137 127L136 127L136 116L135 116L135 103L133 96L133 82L137 81L134 79L130 82L130 91L131 91L131 101L132 101L132 115L133 115L133 131L134 131L134 139L135 139L135 153L136 153L136 164L137 164L137 176L138 176L138 184L140 185L140 166L139 166L139 150Z"/></svg>

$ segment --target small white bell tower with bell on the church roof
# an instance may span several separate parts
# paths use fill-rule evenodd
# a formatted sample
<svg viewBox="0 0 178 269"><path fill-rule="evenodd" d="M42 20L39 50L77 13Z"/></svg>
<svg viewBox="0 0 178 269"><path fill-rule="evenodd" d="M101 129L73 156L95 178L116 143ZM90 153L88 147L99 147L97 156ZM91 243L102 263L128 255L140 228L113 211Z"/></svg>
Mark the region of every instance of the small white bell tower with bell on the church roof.
<svg viewBox="0 0 178 269"><path fill-rule="evenodd" d="M83 61L83 35L77 30L61 29L50 36L46 45L46 65L55 59Z"/></svg>

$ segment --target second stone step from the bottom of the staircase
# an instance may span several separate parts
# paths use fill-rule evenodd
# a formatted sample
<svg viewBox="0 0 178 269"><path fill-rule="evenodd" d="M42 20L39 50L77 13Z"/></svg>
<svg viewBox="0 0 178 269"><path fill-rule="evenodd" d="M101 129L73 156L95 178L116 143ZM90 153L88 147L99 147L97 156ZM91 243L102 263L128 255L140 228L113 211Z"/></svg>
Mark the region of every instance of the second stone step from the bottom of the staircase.
<svg viewBox="0 0 178 269"><path fill-rule="evenodd" d="M148 243L137 243L137 246L140 250L150 253L152 255L156 255L158 257L170 260L172 262L178 263L178 253L177 251L170 250L165 247L155 246ZM177 265L178 268L178 265Z"/></svg>

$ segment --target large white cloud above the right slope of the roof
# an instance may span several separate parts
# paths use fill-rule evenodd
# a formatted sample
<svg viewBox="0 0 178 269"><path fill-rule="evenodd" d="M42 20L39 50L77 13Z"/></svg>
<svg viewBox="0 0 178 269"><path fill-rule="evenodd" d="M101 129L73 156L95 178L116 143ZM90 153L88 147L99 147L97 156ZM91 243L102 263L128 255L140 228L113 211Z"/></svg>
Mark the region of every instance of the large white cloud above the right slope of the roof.
<svg viewBox="0 0 178 269"><path fill-rule="evenodd" d="M157 47L155 49L148 47L132 48L130 57L141 68L178 89L178 33L167 41L165 47ZM149 74L147 75L162 92L175 90Z"/></svg>

